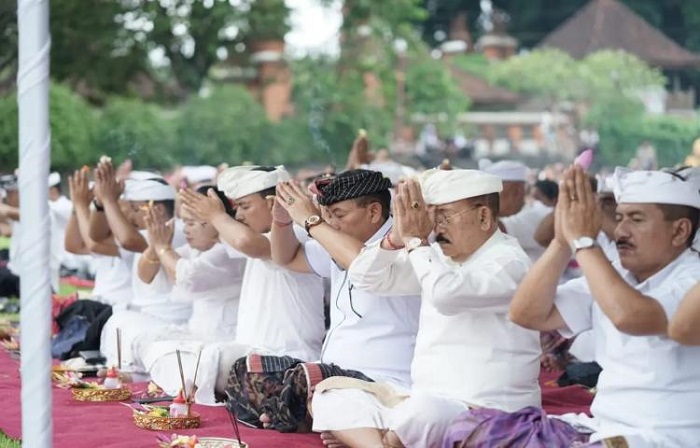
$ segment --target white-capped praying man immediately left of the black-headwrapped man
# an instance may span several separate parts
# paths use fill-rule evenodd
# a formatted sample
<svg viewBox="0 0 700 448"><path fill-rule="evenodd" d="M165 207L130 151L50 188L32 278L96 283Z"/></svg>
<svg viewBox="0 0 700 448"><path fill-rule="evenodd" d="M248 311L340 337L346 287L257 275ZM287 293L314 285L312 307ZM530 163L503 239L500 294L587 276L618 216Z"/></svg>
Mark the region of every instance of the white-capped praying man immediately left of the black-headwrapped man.
<svg viewBox="0 0 700 448"><path fill-rule="evenodd" d="M325 332L322 281L315 275L277 266L270 249L275 186L288 179L283 167L251 165L223 171L218 189L235 203L235 219L226 214L213 191L206 197L183 190L180 198L191 215L216 228L229 246L229 256L248 258L236 342L263 353L314 360L320 354ZM236 358L243 355L245 352ZM222 373L225 375L230 368L225 366Z"/></svg>

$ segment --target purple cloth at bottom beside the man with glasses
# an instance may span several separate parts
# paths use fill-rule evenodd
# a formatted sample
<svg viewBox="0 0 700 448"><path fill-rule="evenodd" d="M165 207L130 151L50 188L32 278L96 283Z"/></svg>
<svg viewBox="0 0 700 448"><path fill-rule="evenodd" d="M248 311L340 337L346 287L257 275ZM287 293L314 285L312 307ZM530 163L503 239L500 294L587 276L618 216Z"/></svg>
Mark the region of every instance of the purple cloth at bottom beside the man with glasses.
<svg viewBox="0 0 700 448"><path fill-rule="evenodd" d="M457 417L447 430L443 448L562 448L587 442L588 436L568 424L547 418L534 406L517 412L472 409Z"/></svg>

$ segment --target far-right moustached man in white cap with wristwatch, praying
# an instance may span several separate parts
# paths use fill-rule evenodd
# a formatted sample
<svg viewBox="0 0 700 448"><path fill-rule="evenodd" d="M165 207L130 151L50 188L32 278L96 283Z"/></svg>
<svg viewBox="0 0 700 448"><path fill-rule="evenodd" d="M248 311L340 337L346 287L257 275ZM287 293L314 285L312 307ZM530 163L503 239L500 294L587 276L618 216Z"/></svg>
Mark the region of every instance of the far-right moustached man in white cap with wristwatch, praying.
<svg viewBox="0 0 700 448"><path fill-rule="evenodd" d="M700 349L667 336L683 296L700 279L690 250L700 213L696 185L659 171L615 174L619 262L596 245L601 217L585 173L570 168L557 204L555 239L523 280L514 322L565 337L591 329L603 368L591 406L592 441L686 447L700 440ZM557 286L572 251L580 279Z"/></svg>

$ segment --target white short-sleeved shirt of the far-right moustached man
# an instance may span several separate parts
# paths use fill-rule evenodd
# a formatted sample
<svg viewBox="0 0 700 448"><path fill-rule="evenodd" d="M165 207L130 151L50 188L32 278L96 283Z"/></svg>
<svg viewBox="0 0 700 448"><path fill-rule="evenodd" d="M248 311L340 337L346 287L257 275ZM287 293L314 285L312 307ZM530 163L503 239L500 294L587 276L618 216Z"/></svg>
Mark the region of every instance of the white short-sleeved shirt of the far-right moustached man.
<svg viewBox="0 0 700 448"><path fill-rule="evenodd" d="M656 299L669 320L700 280L700 258L690 250L642 283L619 262L613 267L637 291ZM561 332L565 337L593 331L603 372L591 412L600 421L601 436L652 431L667 437L668 446L696 446L700 347L682 346L667 336L620 332L594 301L585 278L560 286L555 304L568 326Z"/></svg>

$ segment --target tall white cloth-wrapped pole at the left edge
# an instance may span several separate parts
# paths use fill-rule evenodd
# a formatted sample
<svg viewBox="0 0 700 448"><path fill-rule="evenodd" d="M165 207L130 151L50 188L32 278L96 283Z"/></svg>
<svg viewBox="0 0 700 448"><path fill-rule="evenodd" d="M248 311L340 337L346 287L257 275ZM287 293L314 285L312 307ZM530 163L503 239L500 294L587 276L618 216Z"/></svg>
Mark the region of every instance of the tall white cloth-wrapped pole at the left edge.
<svg viewBox="0 0 700 448"><path fill-rule="evenodd" d="M22 446L52 446L49 2L18 0Z"/></svg>

